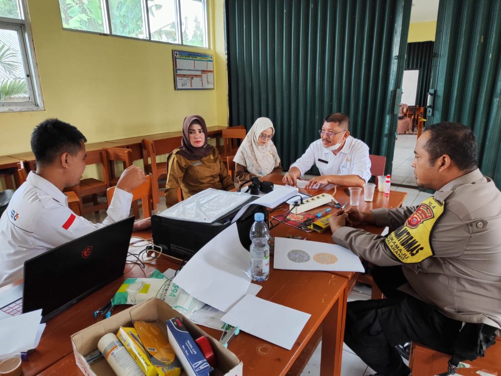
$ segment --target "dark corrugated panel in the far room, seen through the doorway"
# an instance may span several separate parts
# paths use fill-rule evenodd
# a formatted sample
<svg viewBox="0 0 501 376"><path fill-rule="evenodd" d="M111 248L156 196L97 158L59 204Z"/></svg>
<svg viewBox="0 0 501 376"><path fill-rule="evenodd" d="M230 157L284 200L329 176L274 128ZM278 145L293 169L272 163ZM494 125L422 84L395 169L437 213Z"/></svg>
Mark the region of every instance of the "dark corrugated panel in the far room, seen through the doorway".
<svg viewBox="0 0 501 376"><path fill-rule="evenodd" d="M426 99L430 87L432 58L433 42L413 42L407 44L405 69L419 70L416 105L420 107L426 107Z"/></svg>

